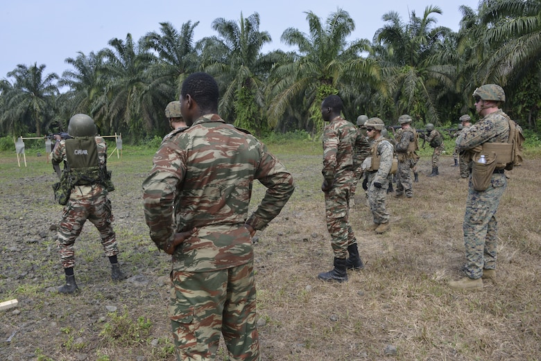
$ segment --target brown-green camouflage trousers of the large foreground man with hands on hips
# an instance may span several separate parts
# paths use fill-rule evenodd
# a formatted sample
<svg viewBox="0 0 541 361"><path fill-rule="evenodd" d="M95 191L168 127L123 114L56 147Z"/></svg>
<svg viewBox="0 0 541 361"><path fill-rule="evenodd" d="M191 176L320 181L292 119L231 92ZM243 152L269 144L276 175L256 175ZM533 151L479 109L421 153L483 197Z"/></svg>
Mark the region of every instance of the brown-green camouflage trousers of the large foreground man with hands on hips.
<svg viewBox="0 0 541 361"><path fill-rule="evenodd" d="M253 263L212 272L171 271L169 318L179 361L260 360Z"/></svg>

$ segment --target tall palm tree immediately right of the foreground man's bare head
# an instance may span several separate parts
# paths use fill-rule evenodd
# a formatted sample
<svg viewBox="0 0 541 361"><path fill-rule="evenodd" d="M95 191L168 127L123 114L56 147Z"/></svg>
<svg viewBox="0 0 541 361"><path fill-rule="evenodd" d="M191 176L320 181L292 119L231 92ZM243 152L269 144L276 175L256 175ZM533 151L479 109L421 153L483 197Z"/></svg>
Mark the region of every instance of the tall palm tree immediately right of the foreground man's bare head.
<svg viewBox="0 0 541 361"><path fill-rule="evenodd" d="M271 58L260 53L261 47L271 42L271 35L259 31L257 12L247 18L241 13L239 24L214 19L212 28L218 37L203 39L199 46L208 63L205 71L215 76L223 88L219 112L226 119L234 119L235 125L260 134L266 129L261 122L261 109L266 109L263 75L271 66Z"/></svg>

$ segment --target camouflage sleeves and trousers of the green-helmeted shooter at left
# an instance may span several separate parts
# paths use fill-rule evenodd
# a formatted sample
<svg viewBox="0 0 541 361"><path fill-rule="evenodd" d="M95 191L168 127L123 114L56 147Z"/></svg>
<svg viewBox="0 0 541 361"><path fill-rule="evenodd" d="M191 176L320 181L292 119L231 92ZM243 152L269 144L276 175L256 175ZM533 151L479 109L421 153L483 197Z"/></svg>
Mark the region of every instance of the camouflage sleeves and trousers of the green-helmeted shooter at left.
<svg viewBox="0 0 541 361"><path fill-rule="evenodd" d="M94 137L94 139L98 150L98 162L100 166L105 166L107 164L107 143L102 137ZM54 164L67 161L69 164L65 140L60 141L53 148L51 161ZM105 256L116 256L119 253L117 238L112 228L111 201L107 195L108 191L105 186L98 183L71 188L71 194L62 211L62 219L58 227L57 243L64 268L75 265L74 243L83 230L86 220L92 222L98 229Z"/></svg>

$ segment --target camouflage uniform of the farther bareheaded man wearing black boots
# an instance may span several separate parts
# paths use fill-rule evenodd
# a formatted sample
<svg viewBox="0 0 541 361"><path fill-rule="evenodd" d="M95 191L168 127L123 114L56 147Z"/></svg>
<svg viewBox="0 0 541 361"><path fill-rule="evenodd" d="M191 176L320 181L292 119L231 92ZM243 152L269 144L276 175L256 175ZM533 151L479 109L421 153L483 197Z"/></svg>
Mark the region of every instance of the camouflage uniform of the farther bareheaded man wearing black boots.
<svg viewBox="0 0 541 361"><path fill-rule="evenodd" d="M325 192L325 218L335 258L346 258L347 247L357 243L349 220L350 192L354 177L355 126L341 118L332 119L323 131L323 178L332 184Z"/></svg>

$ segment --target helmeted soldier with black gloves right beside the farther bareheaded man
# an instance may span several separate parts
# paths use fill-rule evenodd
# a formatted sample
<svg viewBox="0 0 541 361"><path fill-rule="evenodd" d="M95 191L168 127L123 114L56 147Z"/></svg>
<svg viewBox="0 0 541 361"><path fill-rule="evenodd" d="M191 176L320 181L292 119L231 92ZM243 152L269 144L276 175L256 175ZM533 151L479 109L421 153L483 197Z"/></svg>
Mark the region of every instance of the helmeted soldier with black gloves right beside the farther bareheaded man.
<svg viewBox="0 0 541 361"><path fill-rule="evenodd" d="M366 132L374 140L370 156L363 163L365 169L363 189L368 190L368 202L374 224L370 229L377 234L384 234L389 228L389 213L385 200L389 181L393 178L390 167L393 165L393 144L381 136L384 121L380 118L370 118L365 123Z"/></svg>

